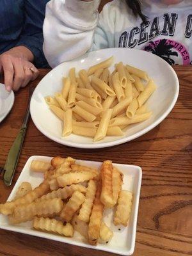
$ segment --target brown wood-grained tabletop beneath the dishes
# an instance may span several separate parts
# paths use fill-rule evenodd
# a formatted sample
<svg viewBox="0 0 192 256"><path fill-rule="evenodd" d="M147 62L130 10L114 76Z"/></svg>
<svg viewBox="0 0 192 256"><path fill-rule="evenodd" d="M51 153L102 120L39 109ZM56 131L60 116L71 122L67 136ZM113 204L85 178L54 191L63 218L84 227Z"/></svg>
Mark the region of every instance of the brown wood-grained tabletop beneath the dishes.
<svg viewBox="0 0 192 256"><path fill-rule="evenodd" d="M179 99L172 113L140 138L111 148L78 149L55 143L29 127L11 188L1 177L0 202L5 202L28 157L71 156L77 159L136 164L143 169L134 256L179 256L192 253L191 86L192 67L174 67L180 81ZM49 70L40 70L36 85ZM169 85L168 85L169 86ZM28 88L15 93L10 115L0 124L0 166L4 166L28 103ZM0 230L0 255L90 255L88 250L38 237Z"/></svg>

